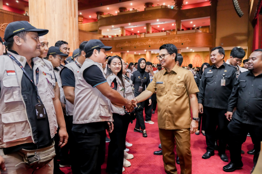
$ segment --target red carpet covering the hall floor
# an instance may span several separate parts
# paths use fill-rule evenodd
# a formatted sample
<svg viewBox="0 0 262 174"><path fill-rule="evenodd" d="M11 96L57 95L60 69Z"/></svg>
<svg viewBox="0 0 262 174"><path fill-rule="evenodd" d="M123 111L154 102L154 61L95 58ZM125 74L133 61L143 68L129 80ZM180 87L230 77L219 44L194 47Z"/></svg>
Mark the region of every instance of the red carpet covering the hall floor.
<svg viewBox="0 0 262 174"><path fill-rule="evenodd" d="M145 174L161 174L165 173L162 155L154 155L153 152L156 150L160 150L158 145L160 143L159 140L159 133L158 133L158 126L157 126L157 111L155 114L152 114L152 121L155 124L148 124L146 125L146 132L148 137L143 137L141 133L134 132L135 127L135 120L133 124L129 124L128 131L127 131L127 141L132 143L133 146L129 147L130 151L128 153L133 154L134 158L130 159L131 166L125 167L125 171L123 172L128 173L145 173ZM109 137L107 135L107 137ZM106 143L108 146L108 143ZM107 153L107 146L106 146L106 153ZM210 159L202 159L201 156L206 152L206 142L205 136L201 133L200 135L191 135L191 151L192 151L192 173L209 173L209 174L219 174L219 173L227 173L223 171L223 166L227 165L227 162L223 162L218 152L215 151L215 156L211 156ZM231 172L233 174L236 173L243 173L247 174L250 173L253 167L253 155L247 154L248 150L253 149L253 144L250 137L247 137L247 141L243 143L242 150L244 150L245 154L242 154L242 161L244 166L241 170L236 170ZM176 153L176 152L175 152ZM226 154L230 157L229 150L226 150ZM107 160L107 154L106 159ZM111 159L114 160L114 159ZM230 159L229 159L230 161ZM180 173L180 167L177 165L177 173ZM60 168L64 173L72 173L70 167L61 167ZM102 173L106 173L106 162L102 165Z"/></svg>

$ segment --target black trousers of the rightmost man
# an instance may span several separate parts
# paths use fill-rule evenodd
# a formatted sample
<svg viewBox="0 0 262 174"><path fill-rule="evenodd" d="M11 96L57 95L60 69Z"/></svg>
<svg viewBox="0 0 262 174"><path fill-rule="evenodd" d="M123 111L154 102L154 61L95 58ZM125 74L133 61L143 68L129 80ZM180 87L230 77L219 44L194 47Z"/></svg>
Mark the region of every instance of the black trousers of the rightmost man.
<svg viewBox="0 0 262 174"><path fill-rule="evenodd" d="M262 141L262 126L245 124L234 119L227 126L229 130L228 145L230 147L230 159L233 163L241 163L241 146L247 139L249 132L254 143L255 155L253 158L254 165L256 164L260 152L260 142Z"/></svg>

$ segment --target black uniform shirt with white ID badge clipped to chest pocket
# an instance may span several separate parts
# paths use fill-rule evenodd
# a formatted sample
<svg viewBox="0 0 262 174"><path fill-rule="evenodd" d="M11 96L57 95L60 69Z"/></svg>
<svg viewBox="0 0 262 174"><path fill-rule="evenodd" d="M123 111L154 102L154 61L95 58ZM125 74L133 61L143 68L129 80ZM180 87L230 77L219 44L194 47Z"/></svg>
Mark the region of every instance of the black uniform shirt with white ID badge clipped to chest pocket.
<svg viewBox="0 0 262 174"><path fill-rule="evenodd" d="M224 62L219 68L215 65L207 67L201 77L198 103L206 107L227 109L227 101L236 82L237 68ZM221 79L226 85L221 86Z"/></svg>

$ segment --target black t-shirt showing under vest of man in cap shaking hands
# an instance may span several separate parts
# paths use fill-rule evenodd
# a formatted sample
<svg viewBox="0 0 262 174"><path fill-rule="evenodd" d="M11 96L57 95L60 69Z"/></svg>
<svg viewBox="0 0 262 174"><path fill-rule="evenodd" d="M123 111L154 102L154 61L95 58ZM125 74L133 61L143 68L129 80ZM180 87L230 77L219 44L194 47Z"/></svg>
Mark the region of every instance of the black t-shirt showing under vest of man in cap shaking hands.
<svg viewBox="0 0 262 174"><path fill-rule="evenodd" d="M83 72L83 78L93 88L96 85L107 82L106 78L103 76L102 71L96 65L92 65L86 68ZM84 133L85 131L87 131L88 133L99 132L107 128L106 122L107 121L85 123L85 124L73 124L72 131L81 132L81 133Z"/></svg>

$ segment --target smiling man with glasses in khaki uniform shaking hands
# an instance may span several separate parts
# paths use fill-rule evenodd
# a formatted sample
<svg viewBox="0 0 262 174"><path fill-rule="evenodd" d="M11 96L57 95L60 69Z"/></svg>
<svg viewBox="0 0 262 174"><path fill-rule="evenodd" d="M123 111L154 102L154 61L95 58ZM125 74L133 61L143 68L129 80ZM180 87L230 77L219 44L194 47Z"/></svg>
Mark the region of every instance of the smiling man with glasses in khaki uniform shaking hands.
<svg viewBox="0 0 262 174"><path fill-rule="evenodd" d="M156 73L146 90L132 99L132 102L144 101L156 91L159 137L165 172L177 173L173 152L176 139L176 152L180 160L181 173L189 174L192 173L190 133L193 134L198 128L196 92L199 90L192 73L176 65L176 57L175 45L164 44L160 47L157 59L165 69ZM194 120L191 120L190 105Z"/></svg>

